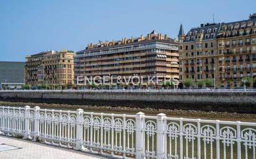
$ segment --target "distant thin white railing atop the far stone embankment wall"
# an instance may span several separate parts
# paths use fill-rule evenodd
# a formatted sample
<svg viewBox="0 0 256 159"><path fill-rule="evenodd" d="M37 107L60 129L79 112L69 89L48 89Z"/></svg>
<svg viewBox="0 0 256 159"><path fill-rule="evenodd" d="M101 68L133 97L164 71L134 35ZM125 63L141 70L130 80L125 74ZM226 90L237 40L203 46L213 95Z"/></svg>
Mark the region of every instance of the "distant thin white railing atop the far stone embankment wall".
<svg viewBox="0 0 256 159"><path fill-rule="evenodd" d="M0 90L0 92L256 92L256 89L81 89L81 90Z"/></svg>

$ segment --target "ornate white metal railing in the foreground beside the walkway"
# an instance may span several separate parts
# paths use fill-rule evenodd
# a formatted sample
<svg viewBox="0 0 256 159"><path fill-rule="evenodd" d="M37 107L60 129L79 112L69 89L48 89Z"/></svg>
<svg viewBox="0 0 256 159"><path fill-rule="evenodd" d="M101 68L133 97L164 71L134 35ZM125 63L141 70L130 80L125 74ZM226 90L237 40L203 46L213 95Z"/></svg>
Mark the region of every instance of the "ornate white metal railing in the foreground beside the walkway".
<svg viewBox="0 0 256 159"><path fill-rule="evenodd" d="M0 132L119 158L255 158L256 123L0 106Z"/></svg>

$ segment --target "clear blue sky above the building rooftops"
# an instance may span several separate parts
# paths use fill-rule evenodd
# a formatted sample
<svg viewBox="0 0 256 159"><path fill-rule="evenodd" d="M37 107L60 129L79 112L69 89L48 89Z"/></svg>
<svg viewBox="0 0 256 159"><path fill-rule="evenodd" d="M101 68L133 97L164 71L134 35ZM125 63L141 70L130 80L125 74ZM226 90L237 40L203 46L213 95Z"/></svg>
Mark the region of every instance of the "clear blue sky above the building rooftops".
<svg viewBox="0 0 256 159"><path fill-rule="evenodd" d="M248 19L256 1L0 0L0 61L25 61L47 49L80 51L98 40L147 35L176 38L201 23Z"/></svg>

